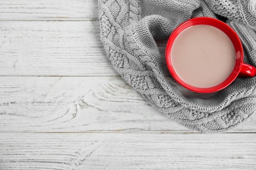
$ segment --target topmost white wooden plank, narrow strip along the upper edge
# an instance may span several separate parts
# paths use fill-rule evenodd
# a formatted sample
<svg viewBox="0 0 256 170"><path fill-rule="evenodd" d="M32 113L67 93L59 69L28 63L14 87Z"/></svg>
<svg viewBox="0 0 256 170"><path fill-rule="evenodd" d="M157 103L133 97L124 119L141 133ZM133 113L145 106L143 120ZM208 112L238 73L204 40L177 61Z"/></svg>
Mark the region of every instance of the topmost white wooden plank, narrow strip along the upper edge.
<svg viewBox="0 0 256 170"><path fill-rule="evenodd" d="M97 20L97 0L1 0L0 20Z"/></svg>

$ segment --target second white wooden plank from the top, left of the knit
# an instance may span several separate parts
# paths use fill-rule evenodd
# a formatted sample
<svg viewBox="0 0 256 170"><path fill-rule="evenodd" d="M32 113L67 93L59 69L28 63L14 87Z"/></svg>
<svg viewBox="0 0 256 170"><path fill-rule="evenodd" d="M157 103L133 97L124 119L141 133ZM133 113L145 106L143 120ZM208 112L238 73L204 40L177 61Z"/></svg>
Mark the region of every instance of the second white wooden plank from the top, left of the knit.
<svg viewBox="0 0 256 170"><path fill-rule="evenodd" d="M159 44L164 58L165 41ZM0 56L0 76L118 75L98 22L0 22Z"/></svg>

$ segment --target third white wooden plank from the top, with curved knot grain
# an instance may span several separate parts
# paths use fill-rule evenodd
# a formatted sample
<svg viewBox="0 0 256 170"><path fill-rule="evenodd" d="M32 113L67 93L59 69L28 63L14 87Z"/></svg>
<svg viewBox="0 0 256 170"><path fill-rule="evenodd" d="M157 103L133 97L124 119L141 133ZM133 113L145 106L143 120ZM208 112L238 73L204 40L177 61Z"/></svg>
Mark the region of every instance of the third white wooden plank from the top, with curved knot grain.
<svg viewBox="0 0 256 170"><path fill-rule="evenodd" d="M255 122L234 131L256 131ZM0 126L2 133L190 131L119 77L0 77Z"/></svg>

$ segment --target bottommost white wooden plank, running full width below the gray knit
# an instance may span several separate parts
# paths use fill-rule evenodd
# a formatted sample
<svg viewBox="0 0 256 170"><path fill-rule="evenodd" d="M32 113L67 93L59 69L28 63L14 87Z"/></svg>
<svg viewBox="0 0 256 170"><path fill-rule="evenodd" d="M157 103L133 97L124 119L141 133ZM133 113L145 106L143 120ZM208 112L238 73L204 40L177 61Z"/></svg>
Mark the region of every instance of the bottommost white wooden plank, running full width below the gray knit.
<svg viewBox="0 0 256 170"><path fill-rule="evenodd" d="M7 169L256 169L256 136L244 134L1 134Z"/></svg>

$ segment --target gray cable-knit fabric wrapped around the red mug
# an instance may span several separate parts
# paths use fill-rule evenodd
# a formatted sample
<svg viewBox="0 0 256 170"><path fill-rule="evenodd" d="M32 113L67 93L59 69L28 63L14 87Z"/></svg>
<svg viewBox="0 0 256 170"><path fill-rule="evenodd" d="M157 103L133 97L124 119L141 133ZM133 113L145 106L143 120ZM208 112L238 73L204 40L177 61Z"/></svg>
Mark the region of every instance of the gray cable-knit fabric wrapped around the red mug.
<svg viewBox="0 0 256 170"><path fill-rule="evenodd" d="M190 129L214 133L256 111L256 77L237 78L209 99L182 95L163 75L165 61L155 42L190 18L219 14L240 36L244 62L256 66L255 0L99 0L98 5L100 37L114 68L160 112Z"/></svg>

